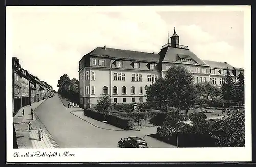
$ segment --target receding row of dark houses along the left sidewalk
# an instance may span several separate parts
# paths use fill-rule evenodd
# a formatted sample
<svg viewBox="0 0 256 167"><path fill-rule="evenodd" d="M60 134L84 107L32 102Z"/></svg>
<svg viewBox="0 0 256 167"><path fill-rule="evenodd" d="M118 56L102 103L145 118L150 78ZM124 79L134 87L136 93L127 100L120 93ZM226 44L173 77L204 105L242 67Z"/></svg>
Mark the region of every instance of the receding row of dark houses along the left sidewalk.
<svg viewBox="0 0 256 167"><path fill-rule="evenodd" d="M24 70L16 57L12 58L12 70L13 115L20 108L48 98L53 94L52 86Z"/></svg>

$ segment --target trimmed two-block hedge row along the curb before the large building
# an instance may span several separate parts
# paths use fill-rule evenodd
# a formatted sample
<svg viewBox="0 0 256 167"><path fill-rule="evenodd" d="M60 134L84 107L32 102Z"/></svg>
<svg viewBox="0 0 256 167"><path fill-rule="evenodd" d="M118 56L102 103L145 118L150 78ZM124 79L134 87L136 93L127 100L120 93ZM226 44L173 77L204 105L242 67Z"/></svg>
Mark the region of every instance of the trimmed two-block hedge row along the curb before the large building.
<svg viewBox="0 0 256 167"><path fill-rule="evenodd" d="M92 108L84 109L83 114L98 121L105 121L104 114L97 112L97 110ZM125 130L133 129L134 120L129 117L124 117L113 113L106 116L106 121L108 122L108 124L114 125Z"/></svg>

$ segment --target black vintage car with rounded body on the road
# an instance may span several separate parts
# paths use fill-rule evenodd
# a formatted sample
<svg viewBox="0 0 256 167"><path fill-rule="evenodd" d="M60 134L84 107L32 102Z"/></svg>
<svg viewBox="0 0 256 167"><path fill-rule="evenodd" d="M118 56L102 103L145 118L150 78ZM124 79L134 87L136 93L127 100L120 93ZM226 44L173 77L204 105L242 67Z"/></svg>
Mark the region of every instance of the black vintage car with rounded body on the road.
<svg viewBox="0 0 256 167"><path fill-rule="evenodd" d="M145 140L139 137L128 137L124 138L118 142L118 146L123 148L147 148L147 143Z"/></svg>

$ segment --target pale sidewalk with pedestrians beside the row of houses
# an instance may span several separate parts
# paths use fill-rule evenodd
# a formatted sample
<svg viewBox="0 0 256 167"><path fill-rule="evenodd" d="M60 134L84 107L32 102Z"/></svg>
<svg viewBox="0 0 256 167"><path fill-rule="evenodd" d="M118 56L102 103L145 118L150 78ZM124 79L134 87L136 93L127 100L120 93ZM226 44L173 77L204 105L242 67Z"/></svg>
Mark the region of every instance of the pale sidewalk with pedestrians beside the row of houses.
<svg viewBox="0 0 256 167"><path fill-rule="evenodd" d="M18 148L36 148L36 149L46 149L46 148L58 148L57 144L53 141L53 138L50 137L50 134L45 129L44 125L37 120L37 116L35 114L36 108L45 102L45 100L41 100L39 102L34 102L31 106L27 105L17 112L17 114L13 117L13 123L16 131L17 144ZM31 119L30 110L33 109L34 118ZM22 110L24 109L24 117L22 116ZM28 122L32 122L33 130L31 132L28 130ZM44 138L41 141L38 140L37 130L39 127L42 127L44 131Z"/></svg>

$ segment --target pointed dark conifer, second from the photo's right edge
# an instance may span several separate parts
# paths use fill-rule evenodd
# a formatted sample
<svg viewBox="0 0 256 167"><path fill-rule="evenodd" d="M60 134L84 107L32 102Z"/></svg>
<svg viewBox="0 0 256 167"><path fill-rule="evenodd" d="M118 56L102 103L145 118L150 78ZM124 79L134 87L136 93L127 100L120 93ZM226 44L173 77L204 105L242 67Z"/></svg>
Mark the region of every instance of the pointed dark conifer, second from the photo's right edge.
<svg viewBox="0 0 256 167"><path fill-rule="evenodd" d="M229 70L227 70L226 72L226 76L224 78L221 90L223 100L227 100L228 105L230 105L230 101L234 99L234 81L230 75Z"/></svg>

